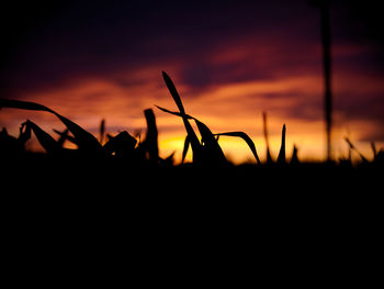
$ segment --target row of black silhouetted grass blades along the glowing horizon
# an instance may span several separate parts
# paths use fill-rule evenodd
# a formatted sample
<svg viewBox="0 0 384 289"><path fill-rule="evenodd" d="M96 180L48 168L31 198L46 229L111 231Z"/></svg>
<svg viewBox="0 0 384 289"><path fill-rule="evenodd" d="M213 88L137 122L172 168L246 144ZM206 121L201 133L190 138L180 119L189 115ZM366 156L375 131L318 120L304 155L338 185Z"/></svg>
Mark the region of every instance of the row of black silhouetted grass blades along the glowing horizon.
<svg viewBox="0 0 384 289"><path fill-rule="evenodd" d="M314 166L308 166L298 159L297 147L294 145L293 153L290 163L286 159L286 126L285 124L282 127L281 136L281 147L279 156L274 162L269 146L268 141L268 127L267 127L267 113L263 112L263 134L267 144L267 160L263 164L260 160L260 157L257 153L257 147L253 141L245 132L218 132L213 133L211 129L203 123L197 118L194 118L190 114L187 114L184 105L182 103L181 97L176 89L176 86L171 78L163 71L163 80L167 85L167 88L176 102L179 111L170 111L168 109L156 105L160 111L170 113L178 118L181 118L187 135L184 140L184 145L182 149L182 157L180 164L174 164L173 154L162 159L159 156L159 146L158 146L158 130L156 124L156 115L151 109L146 109L144 111L144 116L146 119L147 131L144 137L144 141L140 140L140 136L133 136L128 132L123 131L116 136L111 136L105 134L105 120L102 120L100 123L99 140L94 137L90 132L82 129L80 125L63 116L58 112L29 101L19 101L19 100L7 100L0 99L0 109L1 108L13 108L21 110L33 110L49 112L56 115L66 126L66 130L60 132L54 130L56 134L59 135L56 141L52 135L41 129L36 123L26 120L21 124L20 134L18 137L11 136L8 134L7 129L4 127L0 132L0 157L1 159L14 159L12 157L25 158L25 159L41 159L45 162L42 154L35 154L35 157L31 155L30 152L25 148L25 143L31 138L32 132L36 136L38 143L46 152L46 156L49 157L49 162L64 164L65 162L72 162L76 159L87 159L90 164L105 164L105 167L109 167L113 171L113 168L129 168L129 169L139 169L139 168L155 168L155 167L196 167L199 169L203 168L230 168L234 167L233 164L226 158L218 141L221 137L240 137L246 142L250 152L252 153L256 164L253 165L238 165L238 168L266 168L266 171L269 171L268 168L291 168L292 171L297 171L297 169L303 174L307 168L314 168ZM199 140L194 129L192 127L191 121L195 122L201 140ZM106 137L105 137L106 135ZM137 140L138 138L138 140ZM69 141L76 144L77 148L69 149L64 147L64 143ZM382 168L384 159L384 151L380 149L377 152L375 145L372 143L373 151L373 160L369 162L360 151L351 143L349 138L346 138L347 144L349 145L350 151L353 151L359 154L362 159L362 164L371 166L373 168ZM187 153L189 147L192 148L192 163L184 164ZM37 157L37 158L36 158ZM52 164L52 163L49 163ZM77 164L75 162L75 164ZM332 166L346 167L346 164L351 165L351 157L347 160L340 159L339 163L332 163ZM100 167L100 166L98 166ZM329 169L328 166L324 164L318 164L317 168L320 171L324 171L324 167ZM349 166L351 167L351 166ZM242 171L242 170L241 170ZM275 173L276 170L273 170ZM280 170L279 170L280 171ZM286 171L286 170L284 170ZM260 170L255 173L260 175Z"/></svg>

